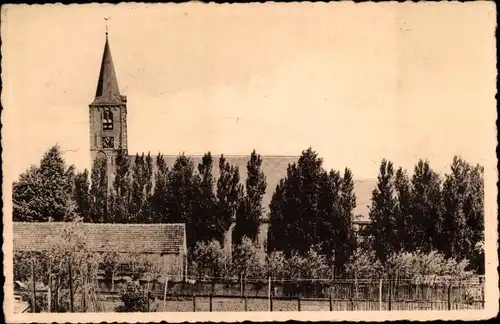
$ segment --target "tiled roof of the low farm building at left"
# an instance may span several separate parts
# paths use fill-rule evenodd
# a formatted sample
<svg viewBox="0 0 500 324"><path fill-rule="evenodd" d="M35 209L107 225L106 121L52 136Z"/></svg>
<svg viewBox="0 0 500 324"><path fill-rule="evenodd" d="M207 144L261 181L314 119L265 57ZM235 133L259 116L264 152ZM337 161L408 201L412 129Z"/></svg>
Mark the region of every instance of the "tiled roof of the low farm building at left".
<svg viewBox="0 0 500 324"><path fill-rule="evenodd" d="M71 223L13 223L15 251L50 249ZM72 224L82 230L90 250L95 252L177 254L186 244L184 224Z"/></svg>

